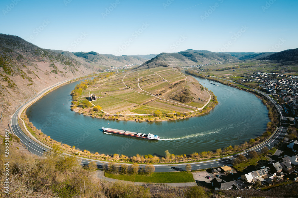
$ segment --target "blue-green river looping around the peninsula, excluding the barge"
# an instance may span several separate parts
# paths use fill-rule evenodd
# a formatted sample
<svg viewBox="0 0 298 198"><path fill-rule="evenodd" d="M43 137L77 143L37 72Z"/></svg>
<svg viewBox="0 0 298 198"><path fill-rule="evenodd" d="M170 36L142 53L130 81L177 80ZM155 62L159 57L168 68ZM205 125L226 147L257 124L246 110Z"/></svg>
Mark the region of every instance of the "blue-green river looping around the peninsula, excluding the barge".
<svg viewBox="0 0 298 198"><path fill-rule="evenodd" d="M218 99L218 105L207 115L176 121L135 122L91 118L70 110L70 92L78 82L63 85L50 92L27 109L27 116L38 129L52 139L75 145L91 153L164 156L211 151L229 145L239 145L260 136L269 121L268 110L251 93L211 80L195 77ZM217 83L220 86L212 85ZM105 134L102 127L132 132L152 133L158 141Z"/></svg>

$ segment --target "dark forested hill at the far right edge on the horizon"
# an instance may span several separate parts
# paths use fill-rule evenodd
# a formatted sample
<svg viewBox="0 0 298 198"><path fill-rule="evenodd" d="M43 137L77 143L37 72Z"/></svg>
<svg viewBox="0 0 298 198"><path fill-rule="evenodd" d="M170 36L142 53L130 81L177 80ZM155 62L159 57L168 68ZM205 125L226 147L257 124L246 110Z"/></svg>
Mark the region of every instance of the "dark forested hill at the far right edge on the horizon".
<svg viewBox="0 0 298 198"><path fill-rule="evenodd" d="M269 56L259 58L258 60L275 61L281 64L288 64L288 65L298 64L298 48L277 52Z"/></svg>

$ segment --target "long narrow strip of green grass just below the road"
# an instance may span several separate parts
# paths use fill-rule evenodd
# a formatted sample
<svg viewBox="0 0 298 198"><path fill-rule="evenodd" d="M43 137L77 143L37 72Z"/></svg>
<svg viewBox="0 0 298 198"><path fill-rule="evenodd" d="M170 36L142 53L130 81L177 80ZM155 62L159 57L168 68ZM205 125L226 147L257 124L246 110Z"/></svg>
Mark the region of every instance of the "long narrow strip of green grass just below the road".
<svg viewBox="0 0 298 198"><path fill-rule="evenodd" d="M193 174L188 172L153 172L138 175L119 175L105 172L105 177L124 181L146 182L146 183L184 183L195 182Z"/></svg>

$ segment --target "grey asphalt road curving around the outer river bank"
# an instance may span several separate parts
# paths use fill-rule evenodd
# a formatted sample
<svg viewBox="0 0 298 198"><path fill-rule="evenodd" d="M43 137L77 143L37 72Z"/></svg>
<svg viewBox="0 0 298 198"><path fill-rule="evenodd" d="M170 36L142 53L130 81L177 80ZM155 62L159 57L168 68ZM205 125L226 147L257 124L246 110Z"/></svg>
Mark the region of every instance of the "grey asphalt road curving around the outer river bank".
<svg viewBox="0 0 298 198"><path fill-rule="evenodd" d="M72 79L71 79L72 80ZM65 83L69 80L66 80L62 83ZM28 102L24 103L18 109L15 111L15 113L12 115L11 120L10 120L10 125L11 125L11 130L12 132L20 138L21 142L28 148L28 150L31 153L34 153L36 155L42 156L44 154L44 150L49 150L51 149L49 146L44 145L43 143L39 142L36 138L34 138L31 134L26 134L22 131L18 124L18 118L21 120L20 115L22 111L29 106L36 98L41 97L44 93L49 91L50 89L54 88L55 86L58 86L62 83L53 85L51 87L46 88L45 90L41 91L37 96L35 96L33 99L29 100ZM219 167L223 165L229 165L232 163L232 160L235 159L240 154L243 154L247 158L249 158L249 151L257 151L261 152L262 148L265 147L266 145L268 148L272 148L275 144L279 143L280 140L285 137L286 132L288 130L288 120L287 117L284 116L285 112L283 111L282 107L277 104L277 102L272 99L270 96L267 94L264 94L261 91L254 90L263 96L265 96L267 99L269 99L274 106L276 107L279 115L280 115L280 125L275 131L272 136L266 140L265 142L261 143L260 145L255 146L254 148L250 148L249 150L246 150L242 153L238 153L236 155L220 158L220 159L215 159L215 160L208 160L208 161L202 161L202 162L193 162L193 163L183 163L183 164L159 164L159 165L154 165L155 167L155 172L173 172L173 171L184 171L185 165L186 164L191 164L192 170L199 170L199 169L208 169L208 168L213 168L213 167ZM30 143L29 143L30 142ZM70 154L63 153L64 155L70 156ZM77 157L78 161L81 161L82 164L89 164L90 161L95 161L98 167L101 167L102 164L108 163L107 161L100 161L100 160L90 160L82 157ZM123 164L123 163L116 163L117 165ZM144 167L145 164L139 164L140 168ZM172 168L175 167L175 168Z"/></svg>

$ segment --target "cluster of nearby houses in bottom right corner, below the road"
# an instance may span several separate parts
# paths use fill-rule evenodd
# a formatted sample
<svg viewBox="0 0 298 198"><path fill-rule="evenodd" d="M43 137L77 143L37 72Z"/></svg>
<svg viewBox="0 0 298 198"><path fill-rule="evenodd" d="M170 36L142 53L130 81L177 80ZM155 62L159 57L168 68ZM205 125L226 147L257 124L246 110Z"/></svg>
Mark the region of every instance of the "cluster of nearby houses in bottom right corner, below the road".
<svg viewBox="0 0 298 198"><path fill-rule="evenodd" d="M298 140L283 142L276 145L272 155L264 155L256 164L245 167L243 171L226 164L221 167L193 172L198 185L214 190L270 189L284 186L297 181ZM272 186L274 185L274 186Z"/></svg>

